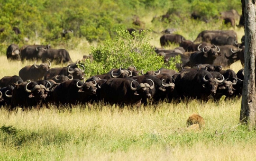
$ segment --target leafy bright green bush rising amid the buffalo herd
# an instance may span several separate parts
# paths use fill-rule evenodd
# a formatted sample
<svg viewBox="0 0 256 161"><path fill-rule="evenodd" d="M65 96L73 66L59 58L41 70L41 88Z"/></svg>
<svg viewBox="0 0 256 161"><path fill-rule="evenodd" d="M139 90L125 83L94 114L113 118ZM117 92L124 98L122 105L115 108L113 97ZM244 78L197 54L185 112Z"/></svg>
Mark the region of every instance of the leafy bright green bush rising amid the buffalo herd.
<svg viewBox="0 0 256 161"><path fill-rule="evenodd" d="M128 68L135 65L138 70L152 71L160 68L175 69L175 64L180 63L180 57L167 64L158 56L154 48L149 44L149 31L141 34L133 32L133 36L126 30L117 30L114 40L104 41L104 45L91 47L94 61L86 60L85 73L88 76L109 72L112 68ZM174 59L172 59L174 60Z"/></svg>

